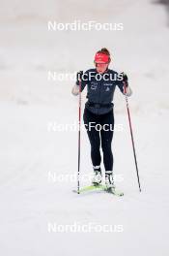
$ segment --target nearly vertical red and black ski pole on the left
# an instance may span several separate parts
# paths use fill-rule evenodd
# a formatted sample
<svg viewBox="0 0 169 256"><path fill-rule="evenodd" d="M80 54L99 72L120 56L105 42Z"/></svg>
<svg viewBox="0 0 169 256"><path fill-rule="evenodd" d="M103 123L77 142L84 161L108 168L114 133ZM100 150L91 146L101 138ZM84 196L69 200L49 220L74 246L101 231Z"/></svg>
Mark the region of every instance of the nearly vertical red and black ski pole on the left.
<svg viewBox="0 0 169 256"><path fill-rule="evenodd" d="M79 80L79 102L78 102L78 172L77 193L80 193L80 132L81 132L81 80Z"/></svg>

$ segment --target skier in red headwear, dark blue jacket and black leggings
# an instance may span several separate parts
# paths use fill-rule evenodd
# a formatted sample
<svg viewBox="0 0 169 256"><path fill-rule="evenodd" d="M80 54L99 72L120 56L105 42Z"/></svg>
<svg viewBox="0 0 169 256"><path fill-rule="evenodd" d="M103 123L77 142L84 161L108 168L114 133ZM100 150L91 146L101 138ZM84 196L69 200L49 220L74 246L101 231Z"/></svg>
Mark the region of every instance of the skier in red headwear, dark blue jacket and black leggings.
<svg viewBox="0 0 169 256"><path fill-rule="evenodd" d="M81 80L81 91L87 85L87 99L85 104L83 120L91 144L91 159L94 168L93 184L99 185L102 181L100 169L101 156L100 144L103 152L103 164L105 169L105 185L107 189L115 189L113 180L113 153L111 149L114 112L113 96L116 85L123 94L130 96L132 91L128 86L127 75L109 69L111 62L110 53L107 48L101 48L95 55L95 69L77 73L77 81L71 93L79 94L79 80ZM124 82L126 84L126 91Z"/></svg>

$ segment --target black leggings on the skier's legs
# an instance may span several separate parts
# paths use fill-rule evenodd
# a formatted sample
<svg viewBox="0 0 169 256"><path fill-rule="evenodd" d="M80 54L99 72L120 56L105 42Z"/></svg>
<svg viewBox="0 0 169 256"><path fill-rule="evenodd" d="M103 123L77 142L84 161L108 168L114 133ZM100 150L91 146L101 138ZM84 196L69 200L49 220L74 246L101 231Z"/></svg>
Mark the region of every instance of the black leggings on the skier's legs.
<svg viewBox="0 0 169 256"><path fill-rule="evenodd" d="M83 119L91 144L91 158L93 166L100 165L101 156L99 147L101 142L105 171L112 171L113 154L111 150L111 143L114 130L113 110L111 112L99 115L85 109Z"/></svg>

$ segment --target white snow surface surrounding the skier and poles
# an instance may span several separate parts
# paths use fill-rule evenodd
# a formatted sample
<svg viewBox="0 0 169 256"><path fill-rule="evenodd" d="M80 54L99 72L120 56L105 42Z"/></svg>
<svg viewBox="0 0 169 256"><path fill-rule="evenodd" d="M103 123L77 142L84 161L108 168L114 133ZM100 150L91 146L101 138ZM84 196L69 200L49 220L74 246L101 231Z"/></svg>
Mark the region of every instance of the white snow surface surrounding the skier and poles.
<svg viewBox="0 0 169 256"><path fill-rule="evenodd" d="M169 255L169 34L164 7L153 1L1 1L0 10L0 248L3 256ZM123 22L124 31L49 32L48 20ZM77 132L51 124L77 121L73 81L48 71L93 65L110 48L112 68L126 71L142 193L138 191L124 96L115 119L124 131L112 144L117 186L125 197L76 195ZM82 97L82 106L85 103ZM81 176L92 174L82 132ZM56 180L52 180L52 176ZM62 180L62 177L64 180ZM82 179L81 185L89 184ZM49 224L122 225L123 232L49 232Z"/></svg>

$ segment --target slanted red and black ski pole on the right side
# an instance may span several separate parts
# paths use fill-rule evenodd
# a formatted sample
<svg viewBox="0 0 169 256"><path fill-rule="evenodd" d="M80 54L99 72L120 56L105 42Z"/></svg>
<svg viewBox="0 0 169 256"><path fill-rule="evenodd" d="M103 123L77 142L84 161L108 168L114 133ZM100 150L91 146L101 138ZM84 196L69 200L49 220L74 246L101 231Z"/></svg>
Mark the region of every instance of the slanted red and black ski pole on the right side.
<svg viewBox="0 0 169 256"><path fill-rule="evenodd" d="M128 122L129 122L129 129L130 129L131 143L132 143L132 149L133 149L133 155L134 155L134 162L135 162L135 168L136 168L139 191L141 192L140 178L139 178L139 175L138 175L137 158L136 158L135 145L134 145L134 139L133 139L133 133L132 133L131 118L130 118L130 112L129 112L129 105L128 105L128 101L127 101L127 84L126 84L125 81L124 81L124 90L125 90L125 97L126 97L126 102L127 102L127 117L128 117Z"/></svg>

